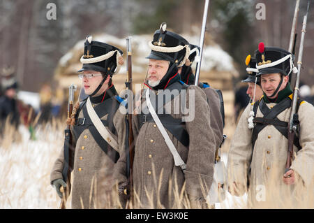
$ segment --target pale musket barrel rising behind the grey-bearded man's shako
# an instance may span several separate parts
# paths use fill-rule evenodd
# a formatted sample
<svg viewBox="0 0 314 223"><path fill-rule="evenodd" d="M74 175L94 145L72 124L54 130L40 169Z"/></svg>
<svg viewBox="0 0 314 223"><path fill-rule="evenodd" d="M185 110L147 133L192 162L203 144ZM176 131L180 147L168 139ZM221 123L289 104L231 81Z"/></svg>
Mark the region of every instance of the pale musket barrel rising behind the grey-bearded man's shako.
<svg viewBox="0 0 314 223"><path fill-rule="evenodd" d="M196 72L195 72L195 86L198 86L200 79L200 67L202 62L203 48L204 48L204 38L206 31L206 22L207 22L207 14L209 9L209 0L205 1L204 13L203 13L203 22L202 22L202 31L200 36L200 56L195 58L197 62Z"/></svg>

